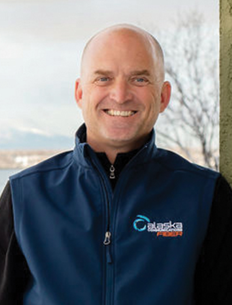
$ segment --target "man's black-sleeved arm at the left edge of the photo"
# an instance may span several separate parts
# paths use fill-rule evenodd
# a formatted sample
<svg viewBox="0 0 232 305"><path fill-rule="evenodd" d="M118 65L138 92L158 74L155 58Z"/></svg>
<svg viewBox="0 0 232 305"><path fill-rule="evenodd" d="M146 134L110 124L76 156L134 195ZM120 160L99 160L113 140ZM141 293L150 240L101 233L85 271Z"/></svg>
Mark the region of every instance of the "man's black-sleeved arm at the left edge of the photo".
<svg viewBox="0 0 232 305"><path fill-rule="evenodd" d="M30 275L13 224L9 182L0 197L0 305L22 305Z"/></svg>

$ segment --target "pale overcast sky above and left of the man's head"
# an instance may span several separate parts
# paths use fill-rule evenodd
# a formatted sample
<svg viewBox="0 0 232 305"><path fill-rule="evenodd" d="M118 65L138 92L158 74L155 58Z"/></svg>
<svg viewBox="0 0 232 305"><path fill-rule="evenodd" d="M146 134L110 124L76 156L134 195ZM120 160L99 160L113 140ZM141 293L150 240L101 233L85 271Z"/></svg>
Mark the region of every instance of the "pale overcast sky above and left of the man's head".
<svg viewBox="0 0 232 305"><path fill-rule="evenodd" d="M132 23L165 32L194 9L218 30L217 0L0 0L0 145L14 129L73 135L82 122L74 82L97 31Z"/></svg>

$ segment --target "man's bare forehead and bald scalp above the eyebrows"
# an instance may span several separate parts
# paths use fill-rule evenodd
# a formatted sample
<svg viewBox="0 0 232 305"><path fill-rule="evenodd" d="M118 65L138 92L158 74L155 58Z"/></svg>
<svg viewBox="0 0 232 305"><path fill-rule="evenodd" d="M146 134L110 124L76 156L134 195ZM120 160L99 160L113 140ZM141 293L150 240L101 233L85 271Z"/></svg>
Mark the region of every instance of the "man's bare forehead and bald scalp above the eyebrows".
<svg viewBox="0 0 232 305"><path fill-rule="evenodd" d="M153 67L155 59L155 48L148 34L131 29L109 30L95 36L87 45L82 72L117 65L148 69Z"/></svg>

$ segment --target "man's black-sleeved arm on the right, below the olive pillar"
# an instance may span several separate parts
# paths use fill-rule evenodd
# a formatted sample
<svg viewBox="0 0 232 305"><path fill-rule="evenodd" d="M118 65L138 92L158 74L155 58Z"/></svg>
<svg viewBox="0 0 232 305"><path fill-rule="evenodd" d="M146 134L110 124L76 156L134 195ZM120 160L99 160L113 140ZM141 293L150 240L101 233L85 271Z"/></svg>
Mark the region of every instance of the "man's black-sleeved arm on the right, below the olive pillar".
<svg viewBox="0 0 232 305"><path fill-rule="evenodd" d="M195 273L197 305L232 304L232 191L218 178L209 227Z"/></svg>

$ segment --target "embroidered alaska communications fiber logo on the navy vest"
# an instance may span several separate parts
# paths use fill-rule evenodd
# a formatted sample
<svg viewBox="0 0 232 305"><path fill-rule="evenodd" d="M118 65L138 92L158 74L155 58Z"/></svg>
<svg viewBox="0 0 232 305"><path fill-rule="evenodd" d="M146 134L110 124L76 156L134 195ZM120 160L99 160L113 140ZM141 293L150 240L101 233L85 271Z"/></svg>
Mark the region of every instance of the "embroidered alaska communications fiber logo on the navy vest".
<svg viewBox="0 0 232 305"><path fill-rule="evenodd" d="M143 215L137 215L133 223L136 231L155 232L156 236L176 237L183 235L182 222L167 221L164 223L151 222L150 219Z"/></svg>

